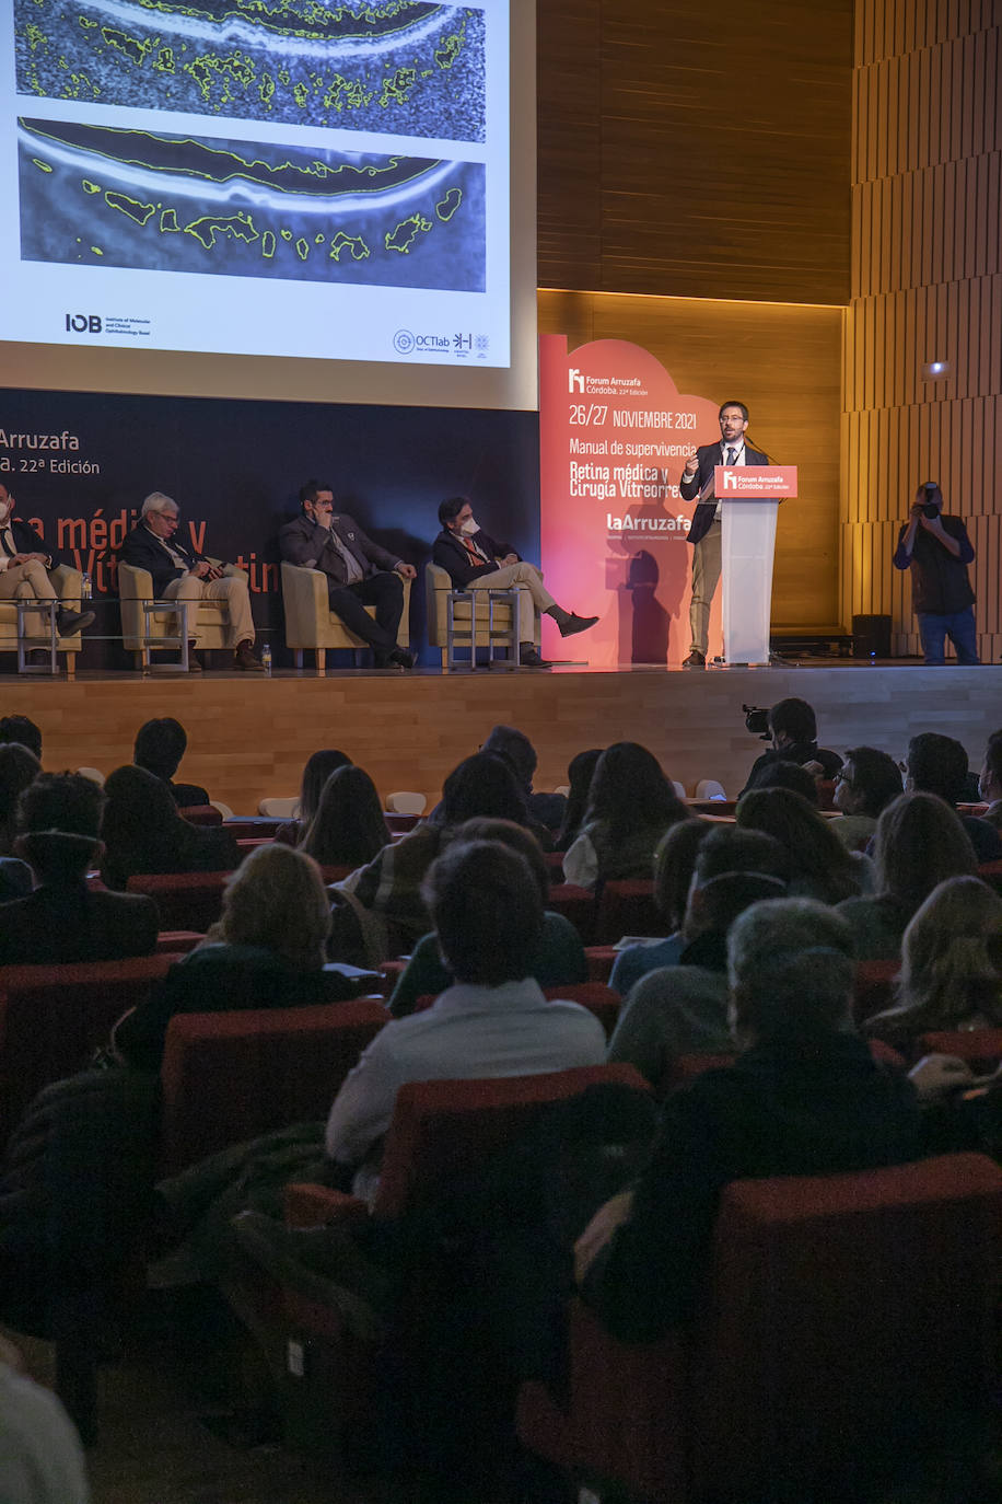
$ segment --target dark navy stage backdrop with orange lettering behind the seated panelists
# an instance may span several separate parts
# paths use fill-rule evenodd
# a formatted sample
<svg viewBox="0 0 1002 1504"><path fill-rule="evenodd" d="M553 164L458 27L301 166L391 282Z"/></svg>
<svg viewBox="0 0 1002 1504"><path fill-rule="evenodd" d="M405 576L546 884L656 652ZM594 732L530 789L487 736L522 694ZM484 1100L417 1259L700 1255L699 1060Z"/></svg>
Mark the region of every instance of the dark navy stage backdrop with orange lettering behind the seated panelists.
<svg viewBox="0 0 1002 1504"><path fill-rule="evenodd" d="M290 663L276 534L309 477L416 566L412 644L428 660L424 564L445 496L470 496L490 532L539 558L535 412L0 391L0 481L47 549L92 575L105 603L95 636L120 635L114 553L143 498L162 490L185 546L248 570L254 620L270 629L275 665ZM81 666L125 662L120 644L86 639Z"/></svg>

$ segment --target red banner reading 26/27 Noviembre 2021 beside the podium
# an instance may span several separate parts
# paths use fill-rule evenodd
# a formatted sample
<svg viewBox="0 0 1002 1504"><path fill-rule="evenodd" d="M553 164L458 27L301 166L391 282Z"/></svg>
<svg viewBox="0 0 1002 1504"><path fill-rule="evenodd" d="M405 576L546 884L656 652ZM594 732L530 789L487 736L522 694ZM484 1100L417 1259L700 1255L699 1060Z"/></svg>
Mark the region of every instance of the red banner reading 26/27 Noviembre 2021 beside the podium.
<svg viewBox="0 0 1002 1504"><path fill-rule="evenodd" d="M679 394L638 344L595 340L568 355L566 335L539 338L542 569L562 606L599 615L572 644L592 665L681 663L690 650L696 504L681 499L679 477L696 445L720 441L718 406ZM544 656L566 657L542 620ZM718 594L709 651L720 650Z"/></svg>

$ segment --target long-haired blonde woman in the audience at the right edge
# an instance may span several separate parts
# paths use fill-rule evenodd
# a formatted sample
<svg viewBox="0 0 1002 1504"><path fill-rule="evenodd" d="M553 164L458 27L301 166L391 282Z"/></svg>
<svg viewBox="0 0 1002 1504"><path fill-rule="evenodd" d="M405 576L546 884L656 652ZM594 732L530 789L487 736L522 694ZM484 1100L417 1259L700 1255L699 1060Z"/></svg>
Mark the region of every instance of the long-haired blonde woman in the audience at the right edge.
<svg viewBox="0 0 1002 1504"><path fill-rule="evenodd" d="M976 877L933 889L904 931L894 1008L867 1023L904 1051L955 1029L1002 1029L1002 898Z"/></svg>

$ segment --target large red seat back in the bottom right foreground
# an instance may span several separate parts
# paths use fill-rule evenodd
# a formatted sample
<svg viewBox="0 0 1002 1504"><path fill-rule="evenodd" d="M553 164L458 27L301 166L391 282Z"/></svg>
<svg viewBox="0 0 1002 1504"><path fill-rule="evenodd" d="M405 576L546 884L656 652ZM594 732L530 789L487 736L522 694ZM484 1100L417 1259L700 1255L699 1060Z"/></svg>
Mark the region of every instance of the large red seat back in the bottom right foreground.
<svg viewBox="0 0 1002 1504"><path fill-rule="evenodd" d="M982 1155L727 1187L694 1340L696 1490L844 1465L897 1417L984 1402L1000 1260Z"/></svg>

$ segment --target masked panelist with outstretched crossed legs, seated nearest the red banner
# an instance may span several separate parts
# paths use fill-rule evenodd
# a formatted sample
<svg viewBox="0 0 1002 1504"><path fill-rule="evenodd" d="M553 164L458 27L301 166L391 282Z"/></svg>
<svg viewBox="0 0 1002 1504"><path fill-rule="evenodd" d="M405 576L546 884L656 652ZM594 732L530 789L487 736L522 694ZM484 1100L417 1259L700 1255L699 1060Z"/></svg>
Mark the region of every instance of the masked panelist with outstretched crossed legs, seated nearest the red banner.
<svg viewBox="0 0 1002 1504"><path fill-rule="evenodd" d="M553 617L562 638L587 632L598 617L578 617L557 606L542 584L535 564L526 564L509 543L496 543L484 532L466 496L452 496L439 507L442 532L434 540L431 558L443 569L455 590L506 590L524 585L529 597L518 597L518 662L524 668L545 668L535 647L535 611ZM535 611L533 611L535 608Z"/></svg>

